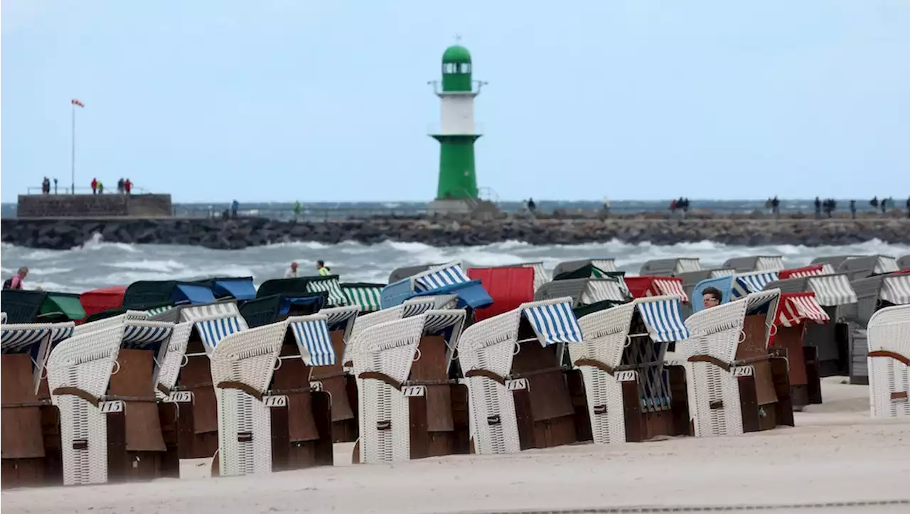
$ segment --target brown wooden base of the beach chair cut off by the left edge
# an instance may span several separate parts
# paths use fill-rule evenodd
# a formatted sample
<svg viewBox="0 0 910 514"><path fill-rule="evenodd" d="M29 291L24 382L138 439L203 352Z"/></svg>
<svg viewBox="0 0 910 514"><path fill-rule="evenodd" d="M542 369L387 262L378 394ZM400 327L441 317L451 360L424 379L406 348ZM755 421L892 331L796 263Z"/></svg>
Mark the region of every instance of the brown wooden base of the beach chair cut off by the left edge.
<svg viewBox="0 0 910 514"><path fill-rule="evenodd" d="M63 483L60 419L25 354L0 355L0 488Z"/></svg>

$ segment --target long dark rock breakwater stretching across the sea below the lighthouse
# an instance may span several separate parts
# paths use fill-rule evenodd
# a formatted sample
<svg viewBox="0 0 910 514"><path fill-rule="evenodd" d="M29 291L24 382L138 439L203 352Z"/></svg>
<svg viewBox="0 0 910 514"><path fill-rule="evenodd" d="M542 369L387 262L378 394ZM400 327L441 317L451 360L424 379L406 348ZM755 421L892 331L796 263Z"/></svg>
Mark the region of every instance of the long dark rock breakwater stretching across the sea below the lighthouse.
<svg viewBox="0 0 910 514"><path fill-rule="evenodd" d="M815 220L805 215L687 219L662 213L625 217L501 217L489 220L372 217L367 219L280 221L246 217L0 219L0 242L21 247L69 249L100 234L105 241L129 244L192 245L239 249L290 241L364 244L387 240L436 247L476 246L501 241L531 245L576 245L612 239L627 243L672 245L713 241L728 245L850 245L872 239L910 242L910 220L903 217L835 217Z"/></svg>

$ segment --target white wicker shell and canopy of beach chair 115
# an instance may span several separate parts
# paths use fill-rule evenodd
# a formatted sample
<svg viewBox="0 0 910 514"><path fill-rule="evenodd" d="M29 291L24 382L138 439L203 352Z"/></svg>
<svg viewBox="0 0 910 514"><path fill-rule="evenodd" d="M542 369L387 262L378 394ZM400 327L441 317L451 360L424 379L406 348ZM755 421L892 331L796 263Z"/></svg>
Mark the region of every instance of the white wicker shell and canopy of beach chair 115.
<svg viewBox="0 0 910 514"><path fill-rule="evenodd" d="M107 394L111 375L119 372L120 349L160 345L160 362L173 330L170 323L136 319L127 313L79 326L76 335L51 352L47 382L54 404L60 409L65 485L108 480L107 415L123 413L125 399L145 401ZM148 387L154 401L154 382Z"/></svg>

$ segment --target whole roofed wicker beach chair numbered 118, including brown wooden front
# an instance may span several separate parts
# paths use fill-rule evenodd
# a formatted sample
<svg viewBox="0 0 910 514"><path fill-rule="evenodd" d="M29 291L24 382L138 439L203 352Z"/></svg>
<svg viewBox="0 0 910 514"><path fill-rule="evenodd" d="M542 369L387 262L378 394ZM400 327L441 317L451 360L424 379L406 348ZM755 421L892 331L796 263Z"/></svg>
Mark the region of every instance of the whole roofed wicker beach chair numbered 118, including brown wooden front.
<svg viewBox="0 0 910 514"><path fill-rule="evenodd" d="M571 307L570 297L530 302L465 329L458 355L477 453L590 438L581 374L563 365L565 345L582 341ZM574 386L580 389L576 402Z"/></svg>

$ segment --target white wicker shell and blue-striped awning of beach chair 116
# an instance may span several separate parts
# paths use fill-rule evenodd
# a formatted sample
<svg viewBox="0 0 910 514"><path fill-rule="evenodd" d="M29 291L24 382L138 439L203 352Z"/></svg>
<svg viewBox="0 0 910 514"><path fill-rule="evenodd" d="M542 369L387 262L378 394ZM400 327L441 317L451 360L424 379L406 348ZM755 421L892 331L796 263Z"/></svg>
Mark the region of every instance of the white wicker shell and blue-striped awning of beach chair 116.
<svg viewBox="0 0 910 514"><path fill-rule="evenodd" d="M209 358L218 403L218 455L221 476L272 471L270 408L287 408L288 397L268 396L272 376L280 366L281 346L288 335L298 344L307 366L335 363L328 317L321 314L288 317L284 321L228 334ZM288 330L289 329L289 330ZM301 377L308 388L309 377Z"/></svg>

